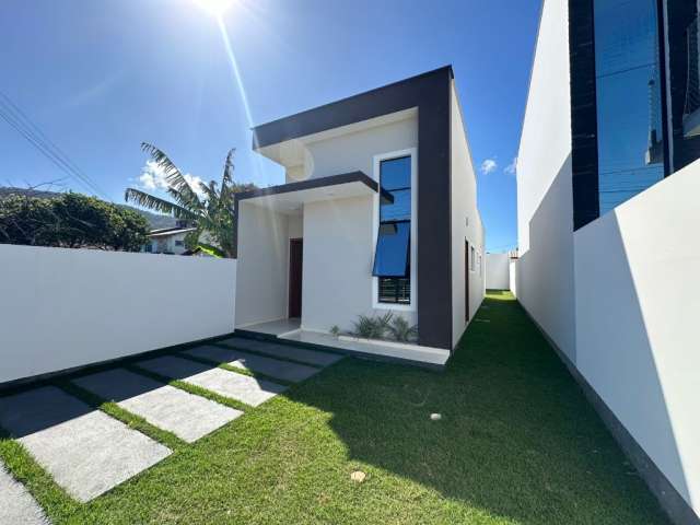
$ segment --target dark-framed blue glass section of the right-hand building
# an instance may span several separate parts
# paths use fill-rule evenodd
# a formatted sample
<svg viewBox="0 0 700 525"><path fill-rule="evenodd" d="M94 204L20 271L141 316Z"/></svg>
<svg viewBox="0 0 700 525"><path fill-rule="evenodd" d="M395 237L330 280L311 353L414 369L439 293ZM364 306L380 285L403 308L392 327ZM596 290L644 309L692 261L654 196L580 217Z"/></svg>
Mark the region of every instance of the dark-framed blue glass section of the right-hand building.
<svg viewBox="0 0 700 525"><path fill-rule="evenodd" d="M696 0L570 0L574 228L700 156Z"/></svg>

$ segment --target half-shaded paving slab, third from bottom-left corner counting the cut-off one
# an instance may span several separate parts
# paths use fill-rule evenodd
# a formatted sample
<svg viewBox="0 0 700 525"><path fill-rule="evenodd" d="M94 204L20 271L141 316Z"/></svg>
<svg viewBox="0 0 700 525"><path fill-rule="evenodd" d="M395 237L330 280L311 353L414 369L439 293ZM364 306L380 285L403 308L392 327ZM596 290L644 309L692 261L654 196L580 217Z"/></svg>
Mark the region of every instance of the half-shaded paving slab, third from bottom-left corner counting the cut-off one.
<svg viewBox="0 0 700 525"><path fill-rule="evenodd" d="M243 415L240 410L124 369L88 375L73 383L103 399L116 401L119 407L188 443Z"/></svg>

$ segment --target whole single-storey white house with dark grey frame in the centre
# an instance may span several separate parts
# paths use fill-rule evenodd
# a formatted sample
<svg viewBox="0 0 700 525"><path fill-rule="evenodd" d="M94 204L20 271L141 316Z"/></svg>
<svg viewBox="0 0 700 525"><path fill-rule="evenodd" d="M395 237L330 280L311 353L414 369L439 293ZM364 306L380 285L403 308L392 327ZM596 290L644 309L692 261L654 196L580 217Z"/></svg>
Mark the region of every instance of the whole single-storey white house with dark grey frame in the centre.
<svg viewBox="0 0 700 525"><path fill-rule="evenodd" d="M258 126L254 149L285 184L237 196L238 328L327 334L392 312L448 355L485 291L452 68Z"/></svg>

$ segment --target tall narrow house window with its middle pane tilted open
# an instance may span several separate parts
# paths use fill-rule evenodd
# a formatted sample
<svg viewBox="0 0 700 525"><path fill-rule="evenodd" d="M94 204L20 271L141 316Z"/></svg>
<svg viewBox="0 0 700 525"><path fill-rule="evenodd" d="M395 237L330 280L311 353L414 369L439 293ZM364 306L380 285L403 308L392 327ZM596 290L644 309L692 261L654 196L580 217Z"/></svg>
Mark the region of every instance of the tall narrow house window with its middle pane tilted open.
<svg viewBox="0 0 700 525"><path fill-rule="evenodd" d="M372 275L378 302L410 304L411 158L380 163L380 231Z"/></svg>

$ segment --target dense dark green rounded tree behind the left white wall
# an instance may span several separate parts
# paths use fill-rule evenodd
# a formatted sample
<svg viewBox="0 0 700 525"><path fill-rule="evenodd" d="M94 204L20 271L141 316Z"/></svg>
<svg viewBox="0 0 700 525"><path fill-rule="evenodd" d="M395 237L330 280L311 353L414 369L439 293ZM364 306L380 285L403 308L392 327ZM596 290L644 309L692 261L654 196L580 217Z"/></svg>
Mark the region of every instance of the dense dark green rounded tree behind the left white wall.
<svg viewBox="0 0 700 525"><path fill-rule="evenodd" d="M80 194L0 199L0 242L139 252L148 221L135 210Z"/></svg>

